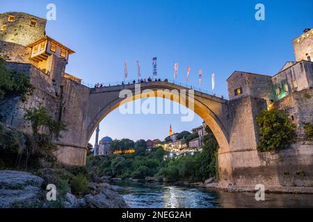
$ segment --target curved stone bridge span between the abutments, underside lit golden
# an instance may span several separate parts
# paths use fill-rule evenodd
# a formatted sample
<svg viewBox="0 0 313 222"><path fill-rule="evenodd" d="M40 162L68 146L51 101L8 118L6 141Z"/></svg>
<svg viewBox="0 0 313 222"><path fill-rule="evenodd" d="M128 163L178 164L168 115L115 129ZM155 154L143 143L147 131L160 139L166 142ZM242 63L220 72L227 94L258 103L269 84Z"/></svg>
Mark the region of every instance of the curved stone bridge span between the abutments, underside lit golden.
<svg viewBox="0 0 313 222"><path fill-rule="evenodd" d="M88 110L88 118L90 121L88 123L87 130L88 141L98 124L110 112L119 108L121 105L125 105L125 103L154 96L163 99L170 99L171 101L175 101L181 105L185 105L187 108L190 108L193 112L198 114L205 121L205 123L207 123L209 128L211 128L216 140L218 141L218 145L220 146L219 153L230 151L229 133L227 128L227 100L194 91L193 102L188 101L188 96L186 96L185 100L182 99L182 96L180 95L178 96L179 99L177 101L177 94L173 93L173 89L177 89L179 91L186 90L187 95L188 89L165 82L141 83L141 86L141 91L139 93L135 92L133 84L104 87L103 89L94 89L93 92L90 92ZM129 89L133 93L132 96L120 98L119 93L122 89ZM147 92L146 89L150 89L150 92Z"/></svg>

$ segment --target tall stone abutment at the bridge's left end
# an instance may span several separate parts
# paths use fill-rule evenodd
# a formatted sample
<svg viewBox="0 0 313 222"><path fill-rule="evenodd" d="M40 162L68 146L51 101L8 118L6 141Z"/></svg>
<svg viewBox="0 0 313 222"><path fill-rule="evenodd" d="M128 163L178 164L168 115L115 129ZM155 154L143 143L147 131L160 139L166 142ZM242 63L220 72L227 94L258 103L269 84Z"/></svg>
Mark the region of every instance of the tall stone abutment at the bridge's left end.
<svg viewBox="0 0 313 222"><path fill-rule="evenodd" d="M90 89L73 80L63 78L61 84L60 120L67 125L58 144L58 160L72 165L86 163L88 143L86 118Z"/></svg>

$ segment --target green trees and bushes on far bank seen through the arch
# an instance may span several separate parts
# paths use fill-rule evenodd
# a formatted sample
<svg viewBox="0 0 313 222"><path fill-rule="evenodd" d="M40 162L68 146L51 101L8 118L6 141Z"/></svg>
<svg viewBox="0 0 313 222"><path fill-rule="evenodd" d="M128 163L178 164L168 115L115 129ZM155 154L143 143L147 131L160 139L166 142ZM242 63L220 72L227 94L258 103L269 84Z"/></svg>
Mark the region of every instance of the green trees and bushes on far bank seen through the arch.
<svg viewBox="0 0 313 222"><path fill-rule="evenodd" d="M167 180L206 180L212 176L218 177L217 150L218 143L209 130L204 136L204 146L201 153L179 156L170 161L164 161L168 154L163 148L151 148L146 151L145 141L135 143L136 153L125 155L111 155L106 157L88 157L88 168L97 167L100 176L117 178L144 179L147 176L159 176ZM187 134L187 133L183 133ZM188 136L192 135L191 133ZM195 136L195 135L193 135ZM123 144L123 145L120 145ZM128 145L127 145L128 144ZM130 140L115 140L114 148L118 150L124 146L132 146Z"/></svg>

